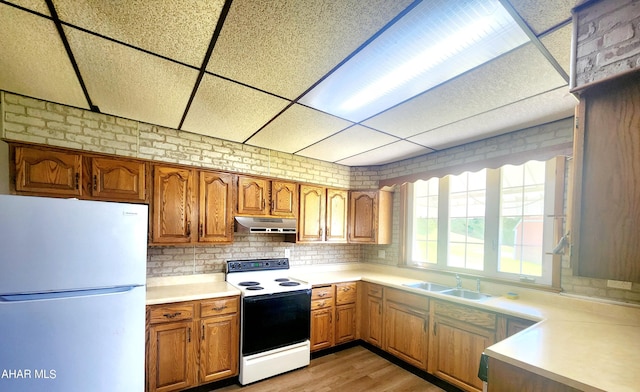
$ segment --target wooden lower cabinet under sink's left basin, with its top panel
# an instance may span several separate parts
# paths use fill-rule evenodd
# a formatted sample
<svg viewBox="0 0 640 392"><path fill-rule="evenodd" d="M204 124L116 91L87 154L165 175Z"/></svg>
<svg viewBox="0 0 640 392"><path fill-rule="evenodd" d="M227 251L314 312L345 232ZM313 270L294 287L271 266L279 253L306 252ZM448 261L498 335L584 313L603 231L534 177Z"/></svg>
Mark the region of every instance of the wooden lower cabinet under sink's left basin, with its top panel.
<svg viewBox="0 0 640 392"><path fill-rule="evenodd" d="M396 289L385 289L384 349L427 370L429 299Z"/></svg>

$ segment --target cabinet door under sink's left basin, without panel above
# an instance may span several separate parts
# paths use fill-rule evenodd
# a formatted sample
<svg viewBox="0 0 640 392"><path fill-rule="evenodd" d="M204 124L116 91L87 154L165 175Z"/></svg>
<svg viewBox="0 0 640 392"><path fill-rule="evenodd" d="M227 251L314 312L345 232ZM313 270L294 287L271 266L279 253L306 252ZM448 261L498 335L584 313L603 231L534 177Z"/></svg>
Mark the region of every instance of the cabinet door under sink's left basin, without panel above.
<svg viewBox="0 0 640 392"><path fill-rule="evenodd" d="M427 310L386 302L385 349L420 369L427 370Z"/></svg>

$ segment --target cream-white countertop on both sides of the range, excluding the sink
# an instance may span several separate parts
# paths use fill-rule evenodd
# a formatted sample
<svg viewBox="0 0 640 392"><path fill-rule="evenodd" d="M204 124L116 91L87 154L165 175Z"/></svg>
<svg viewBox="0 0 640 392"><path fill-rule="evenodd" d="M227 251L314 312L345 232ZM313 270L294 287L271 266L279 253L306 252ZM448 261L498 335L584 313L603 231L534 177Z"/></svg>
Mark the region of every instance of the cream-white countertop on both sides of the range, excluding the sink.
<svg viewBox="0 0 640 392"><path fill-rule="evenodd" d="M441 276L366 263L292 267L290 277L312 285L363 280L539 321L485 353L583 391L640 390L640 307L527 289L518 289L519 299L512 300L502 296L507 286L486 282L482 291L493 296L475 302L403 286L425 280L455 284L443 282ZM475 289L474 281L464 282L465 288ZM147 281L149 305L239 294L224 282L222 273Z"/></svg>

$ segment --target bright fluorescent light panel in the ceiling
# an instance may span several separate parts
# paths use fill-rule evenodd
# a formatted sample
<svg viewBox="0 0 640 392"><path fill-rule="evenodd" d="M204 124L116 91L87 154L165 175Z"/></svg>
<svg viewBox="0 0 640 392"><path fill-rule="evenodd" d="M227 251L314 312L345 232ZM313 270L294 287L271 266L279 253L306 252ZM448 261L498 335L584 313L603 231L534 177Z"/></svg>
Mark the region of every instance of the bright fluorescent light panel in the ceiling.
<svg viewBox="0 0 640 392"><path fill-rule="evenodd" d="M528 41L498 0L425 0L300 103L359 122Z"/></svg>

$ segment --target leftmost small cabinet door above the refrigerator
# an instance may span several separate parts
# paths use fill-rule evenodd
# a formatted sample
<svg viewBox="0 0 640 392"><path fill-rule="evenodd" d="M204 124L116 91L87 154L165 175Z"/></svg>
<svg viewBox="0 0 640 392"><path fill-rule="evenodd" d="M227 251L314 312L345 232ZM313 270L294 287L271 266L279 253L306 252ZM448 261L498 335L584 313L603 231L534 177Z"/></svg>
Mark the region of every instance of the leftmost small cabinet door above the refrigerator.
<svg viewBox="0 0 640 392"><path fill-rule="evenodd" d="M16 147L16 191L81 196L80 154Z"/></svg>

